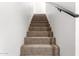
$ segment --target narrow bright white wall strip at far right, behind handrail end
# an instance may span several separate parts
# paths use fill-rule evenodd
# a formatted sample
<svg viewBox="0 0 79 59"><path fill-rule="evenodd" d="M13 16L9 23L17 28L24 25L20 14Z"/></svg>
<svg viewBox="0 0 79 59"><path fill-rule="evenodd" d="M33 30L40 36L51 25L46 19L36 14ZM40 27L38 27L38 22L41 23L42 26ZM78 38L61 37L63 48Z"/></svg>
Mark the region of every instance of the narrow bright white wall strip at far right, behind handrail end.
<svg viewBox="0 0 79 59"><path fill-rule="evenodd" d="M79 3L76 2L76 13L79 14ZM75 21L76 56L79 56L79 17Z"/></svg>

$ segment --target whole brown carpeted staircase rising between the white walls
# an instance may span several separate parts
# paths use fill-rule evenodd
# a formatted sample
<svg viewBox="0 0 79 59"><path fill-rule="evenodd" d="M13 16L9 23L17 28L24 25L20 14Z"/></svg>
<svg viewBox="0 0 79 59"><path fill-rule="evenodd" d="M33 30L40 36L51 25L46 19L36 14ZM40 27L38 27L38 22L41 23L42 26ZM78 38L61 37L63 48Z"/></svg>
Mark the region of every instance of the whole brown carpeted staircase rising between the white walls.
<svg viewBox="0 0 79 59"><path fill-rule="evenodd" d="M21 47L21 56L59 56L60 49L53 37L45 14L34 14L27 37Z"/></svg>

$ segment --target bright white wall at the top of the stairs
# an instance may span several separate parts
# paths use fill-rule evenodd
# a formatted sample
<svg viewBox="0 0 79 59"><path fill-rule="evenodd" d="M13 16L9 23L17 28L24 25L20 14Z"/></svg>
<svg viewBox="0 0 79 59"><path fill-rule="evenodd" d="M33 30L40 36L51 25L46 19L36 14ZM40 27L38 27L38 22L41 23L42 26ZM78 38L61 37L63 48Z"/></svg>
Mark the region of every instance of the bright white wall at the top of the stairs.
<svg viewBox="0 0 79 59"><path fill-rule="evenodd" d="M34 14L46 13L45 2L33 2L33 13Z"/></svg>

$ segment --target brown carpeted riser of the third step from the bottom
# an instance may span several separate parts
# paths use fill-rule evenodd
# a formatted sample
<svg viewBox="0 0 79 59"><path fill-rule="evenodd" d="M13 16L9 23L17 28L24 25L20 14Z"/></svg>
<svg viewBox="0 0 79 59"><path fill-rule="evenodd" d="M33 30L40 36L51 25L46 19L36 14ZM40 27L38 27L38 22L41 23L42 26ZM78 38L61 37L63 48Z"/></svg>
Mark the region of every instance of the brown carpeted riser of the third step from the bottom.
<svg viewBox="0 0 79 59"><path fill-rule="evenodd" d="M28 37L52 37L53 33L48 31L30 31L27 32Z"/></svg>

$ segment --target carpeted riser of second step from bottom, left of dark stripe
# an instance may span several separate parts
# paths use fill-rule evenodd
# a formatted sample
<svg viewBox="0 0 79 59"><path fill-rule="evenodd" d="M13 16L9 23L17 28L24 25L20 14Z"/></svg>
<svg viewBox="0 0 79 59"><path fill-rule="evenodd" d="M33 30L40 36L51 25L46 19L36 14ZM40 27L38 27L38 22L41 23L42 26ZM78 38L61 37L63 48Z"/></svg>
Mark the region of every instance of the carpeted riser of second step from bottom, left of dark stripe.
<svg viewBox="0 0 79 59"><path fill-rule="evenodd" d="M50 44L51 38L25 38L24 44Z"/></svg>

